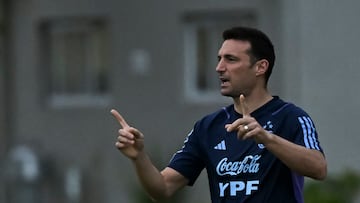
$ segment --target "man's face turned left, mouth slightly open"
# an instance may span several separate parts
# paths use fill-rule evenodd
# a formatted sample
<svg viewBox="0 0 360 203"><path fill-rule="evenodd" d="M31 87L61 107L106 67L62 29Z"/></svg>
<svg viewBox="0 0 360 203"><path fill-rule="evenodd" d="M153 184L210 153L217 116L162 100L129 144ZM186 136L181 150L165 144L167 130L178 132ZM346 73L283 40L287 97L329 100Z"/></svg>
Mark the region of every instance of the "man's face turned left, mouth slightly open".
<svg viewBox="0 0 360 203"><path fill-rule="evenodd" d="M248 95L256 85L256 73L251 64L248 41L226 40L218 53L216 72L221 81L220 92L224 96Z"/></svg>

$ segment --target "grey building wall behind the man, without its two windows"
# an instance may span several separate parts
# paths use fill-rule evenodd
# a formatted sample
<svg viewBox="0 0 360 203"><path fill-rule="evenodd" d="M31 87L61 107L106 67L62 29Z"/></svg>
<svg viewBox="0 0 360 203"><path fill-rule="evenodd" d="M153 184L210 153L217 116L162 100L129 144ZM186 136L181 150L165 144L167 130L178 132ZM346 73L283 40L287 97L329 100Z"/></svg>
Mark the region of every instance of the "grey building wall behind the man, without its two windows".
<svg viewBox="0 0 360 203"><path fill-rule="evenodd" d="M224 104L184 100L183 36L180 16L193 10L256 8L260 27L274 39L277 64L270 80L275 94L307 110L315 120L329 161L329 172L359 168L356 121L356 69L360 29L356 1L12 1L10 9L12 139L50 157L63 174L76 166L89 179L93 202L129 202L136 186L131 163L114 147L117 108L145 133L146 149L159 168L179 148L193 123ZM260 6L259 6L260 5ZM109 104L54 109L44 105L37 26L61 16L107 19L110 46ZM344 33L346 35L344 35ZM149 54L149 72L132 69L129 56ZM0 60L1 62L1 60ZM1 82L0 78L0 82ZM0 103L1 104L1 103ZM1 107L3 108L3 107ZM330 110L331 109L331 110ZM330 110L330 111L329 111ZM0 114L1 116L1 114ZM334 127L333 127L334 126ZM1 128L0 128L1 130ZM208 202L205 173L187 202Z"/></svg>

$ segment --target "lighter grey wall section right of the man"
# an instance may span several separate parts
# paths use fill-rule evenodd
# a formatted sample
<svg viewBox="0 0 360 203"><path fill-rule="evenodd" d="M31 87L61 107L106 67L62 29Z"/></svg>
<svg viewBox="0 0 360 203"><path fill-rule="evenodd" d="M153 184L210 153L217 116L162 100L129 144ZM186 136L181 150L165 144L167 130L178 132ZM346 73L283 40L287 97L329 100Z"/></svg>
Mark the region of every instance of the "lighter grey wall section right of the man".
<svg viewBox="0 0 360 203"><path fill-rule="evenodd" d="M288 73L287 95L316 121L329 173L360 169L360 3L320 0L285 4L290 18L284 19L289 57L285 66L293 71Z"/></svg>

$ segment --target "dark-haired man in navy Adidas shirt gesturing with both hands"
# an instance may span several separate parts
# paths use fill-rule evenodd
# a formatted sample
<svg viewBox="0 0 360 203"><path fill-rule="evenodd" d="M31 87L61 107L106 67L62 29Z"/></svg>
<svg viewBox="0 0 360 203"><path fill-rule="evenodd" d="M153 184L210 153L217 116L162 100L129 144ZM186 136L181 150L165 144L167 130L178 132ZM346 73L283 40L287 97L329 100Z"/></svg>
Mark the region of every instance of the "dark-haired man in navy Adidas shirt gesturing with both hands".
<svg viewBox="0 0 360 203"><path fill-rule="evenodd" d="M143 134L112 110L122 126L116 147L132 160L154 200L193 185L206 168L213 203L303 203L304 176L327 175L313 121L269 93L275 54L263 32L235 27L223 39L216 71L221 94L234 103L199 120L162 171L144 152Z"/></svg>

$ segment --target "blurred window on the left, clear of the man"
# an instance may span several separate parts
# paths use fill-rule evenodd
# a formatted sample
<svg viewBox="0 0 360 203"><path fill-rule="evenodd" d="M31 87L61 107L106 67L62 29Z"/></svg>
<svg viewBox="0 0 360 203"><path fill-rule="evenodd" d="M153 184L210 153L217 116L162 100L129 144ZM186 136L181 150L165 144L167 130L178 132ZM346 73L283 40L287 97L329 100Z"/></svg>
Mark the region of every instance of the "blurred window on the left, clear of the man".
<svg viewBox="0 0 360 203"><path fill-rule="evenodd" d="M52 106L108 102L107 42L104 21L70 18L41 26L46 96Z"/></svg>

